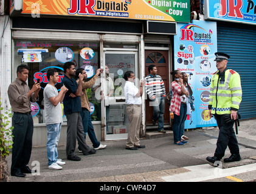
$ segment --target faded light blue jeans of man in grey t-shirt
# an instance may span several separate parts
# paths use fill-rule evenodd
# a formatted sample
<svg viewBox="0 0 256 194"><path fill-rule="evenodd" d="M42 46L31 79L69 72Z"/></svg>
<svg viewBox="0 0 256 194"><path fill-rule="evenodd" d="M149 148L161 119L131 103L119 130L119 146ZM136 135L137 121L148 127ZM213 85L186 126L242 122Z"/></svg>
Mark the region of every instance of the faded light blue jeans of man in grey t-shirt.
<svg viewBox="0 0 256 194"><path fill-rule="evenodd" d="M61 130L61 123L57 124L49 124L46 125L47 127L47 157L48 157L48 166L50 164L57 162L58 158L58 140L60 139L60 130Z"/></svg>

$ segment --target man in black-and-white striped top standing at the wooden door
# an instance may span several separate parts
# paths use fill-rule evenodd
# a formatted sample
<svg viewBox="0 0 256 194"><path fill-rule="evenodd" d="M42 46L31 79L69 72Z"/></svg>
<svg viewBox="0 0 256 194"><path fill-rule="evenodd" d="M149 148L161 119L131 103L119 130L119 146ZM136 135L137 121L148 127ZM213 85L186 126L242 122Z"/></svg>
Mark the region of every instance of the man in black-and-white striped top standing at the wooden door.
<svg viewBox="0 0 256 194"><path fill-rule="evenodd" d="M150 105L153 106L153 124L158 120L158 132L166 133L164 130L164 98L165 87L161 76L157 75L156 65L148 66L148 73L145 77L145 91L150 98Z"/></svg>

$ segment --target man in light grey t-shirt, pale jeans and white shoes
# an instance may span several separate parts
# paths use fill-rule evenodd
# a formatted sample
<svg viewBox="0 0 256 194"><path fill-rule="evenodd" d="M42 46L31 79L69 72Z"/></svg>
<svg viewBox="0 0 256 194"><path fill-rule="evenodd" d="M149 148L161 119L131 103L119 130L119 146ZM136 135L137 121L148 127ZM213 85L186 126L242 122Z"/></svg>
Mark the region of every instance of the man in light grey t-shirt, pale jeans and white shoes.
<svg viewBox="0 0 256 194"><path fill-rule="evenodd" d="M47 127L47 157L48 168L60 170L63 169L60 165L66 164L61 159L58 159L58 140L60 139L60 130L62 119L62 110L60 102L63 101L67 88L63 85L60 93L55 87L58 83L58 71L54 68L47 71L47 79L49 83L44 88L44 118L46 119Z"/></svg>

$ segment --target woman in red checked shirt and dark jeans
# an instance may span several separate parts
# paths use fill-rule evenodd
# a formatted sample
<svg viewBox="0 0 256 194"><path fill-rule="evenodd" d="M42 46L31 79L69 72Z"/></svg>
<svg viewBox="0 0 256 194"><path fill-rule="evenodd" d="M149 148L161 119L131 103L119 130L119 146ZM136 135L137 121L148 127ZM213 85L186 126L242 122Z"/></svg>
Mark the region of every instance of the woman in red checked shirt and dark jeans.
<svg viewBox="0 0 256 194"><path fill-rule="evenodd" d="M187 116L187 99L185 96L189 96L189 92L185 90L180 70L174 70L171 72L171 75L173 77L173 82L171 82L173 96L171 98L170 110L174 113L173 139L174 144L184 146L184 144L187 144L187 141L181 139L182 130L184 131L182 121Z"/></svg>

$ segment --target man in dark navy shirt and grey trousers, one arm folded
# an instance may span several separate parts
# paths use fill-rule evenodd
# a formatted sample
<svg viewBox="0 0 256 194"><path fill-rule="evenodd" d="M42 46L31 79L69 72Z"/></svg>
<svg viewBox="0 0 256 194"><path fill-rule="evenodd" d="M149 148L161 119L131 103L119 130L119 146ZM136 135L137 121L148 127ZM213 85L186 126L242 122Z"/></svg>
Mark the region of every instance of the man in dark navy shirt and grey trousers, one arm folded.
<svg viewBox="0 0 256 194"><path fill-rule="evenodd" d="M74 62L65 62L63 70L65 75L61 82L61 85L65 85L68 89L63 99L64 113L67 118L66 155L67 159L69 160L80 161L81 158L74 154L77 141L81 148L81 151L83 152L83 155L96 153L96 151L91 150L91 148L85 142L85 133L83 132L83 124L81 121L80 96L83 95L83 75L81 75L81 73L80 75L78 75L79 83L77 84L75 79L72 78L72 76L75 75Z"/></svg>

